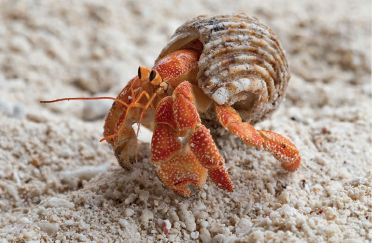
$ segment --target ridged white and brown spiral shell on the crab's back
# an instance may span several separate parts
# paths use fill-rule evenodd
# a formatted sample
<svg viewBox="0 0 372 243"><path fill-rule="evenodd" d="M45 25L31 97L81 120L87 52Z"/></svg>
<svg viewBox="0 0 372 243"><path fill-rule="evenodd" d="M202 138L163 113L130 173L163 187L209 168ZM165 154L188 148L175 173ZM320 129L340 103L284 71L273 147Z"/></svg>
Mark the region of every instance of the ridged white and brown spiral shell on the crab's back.
<svg viewBox="0 0 372 243"><path fill-rule="evenodd" d="M203 43L197 80L206 95L251 124L279 106L290 74L269 27L245 14L199 16L176 30L156 61L197 39Z"/></svg>

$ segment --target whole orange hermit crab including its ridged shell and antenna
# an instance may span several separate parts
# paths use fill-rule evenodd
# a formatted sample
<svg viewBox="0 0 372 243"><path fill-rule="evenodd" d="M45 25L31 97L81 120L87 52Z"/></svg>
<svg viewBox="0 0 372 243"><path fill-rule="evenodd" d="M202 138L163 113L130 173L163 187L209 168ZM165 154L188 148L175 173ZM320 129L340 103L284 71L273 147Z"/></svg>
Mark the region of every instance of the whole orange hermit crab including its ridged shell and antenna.
<svg viewBox="0 0 372 243"><path fill-rule="evenodd" d="M284 98L290 74L277 36L245 14L199 16L180 26L150 70L139 67L112 99L104 125L120 165L136 160L134 123L153 130L151 161L164 185L188 197L207 176L233 191L224 158L208 128L224 127L249 146L269 151L288 171L301 161L283 136L257 131ZM208 128L207 128L208 127ZM138 134L137 131L137 134ZM180 141L183 138L184 143Z"/></svg>

